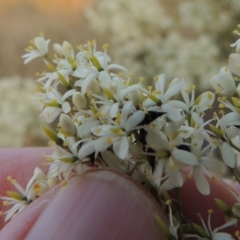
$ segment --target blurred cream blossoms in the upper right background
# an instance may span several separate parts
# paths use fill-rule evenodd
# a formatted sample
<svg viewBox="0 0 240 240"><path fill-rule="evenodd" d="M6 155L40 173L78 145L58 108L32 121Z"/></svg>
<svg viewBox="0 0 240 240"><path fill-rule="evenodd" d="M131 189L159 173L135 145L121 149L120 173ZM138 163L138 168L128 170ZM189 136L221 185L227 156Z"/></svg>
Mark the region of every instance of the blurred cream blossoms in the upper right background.
<svg viewBox="0 0 240 240"><path fill-rule="evenodd" d="M201 89L226 64L239 12L237 0L92 0L86 11L92 29L113 45L114 60L136 77L165 73Z"/></svg>

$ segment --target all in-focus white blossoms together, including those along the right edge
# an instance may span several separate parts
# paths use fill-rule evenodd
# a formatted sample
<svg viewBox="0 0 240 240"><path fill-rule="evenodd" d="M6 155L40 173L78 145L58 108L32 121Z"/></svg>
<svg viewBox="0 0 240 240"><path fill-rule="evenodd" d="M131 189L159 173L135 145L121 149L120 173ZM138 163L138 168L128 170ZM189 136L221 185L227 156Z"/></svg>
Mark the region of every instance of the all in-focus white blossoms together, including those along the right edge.
<svg viewBox="0 0 240 240"><path fill-rule="evenodd" d="M239 180L240 85L235 81L240 77L240 40L232 45L237 52L230 55L228 66L211 80L216 92L198 96L195 86L188 86L184 79L168 81L164 74L144 87L143 78L137 79L127 68L112 63L108 45L98 51L96 42L89 41L78 46L75 53L64 41L53 45L55 53L51 57L49 42L43 36L36 37L23 58L28 63L41 57L48 68L37 80L37 91L40 116L46 123L57 123L56 130L44 127L54 151L45 156L47 176L36 170L26 190L15 184L21 199L16 193L2 197L14 205L5 212L6 220L57 182L65 183L90 168L107 168L145 184L168 209L168 233L171 239L177 239L178 229L183 231L182 222L172 201L166 201L166 191L182 187L186 178L193 177L198 191L208 195L209 177L221 177L227 171ZM220 94L219 114L207 117L216 94ZM217 156L219 152L222 158ZM184 234L197 239L231 239L229 234L217 233L238 221L233 210L231 217L214 231L210 223L207 228L202 221L205 236L201 231Z"/></svg>

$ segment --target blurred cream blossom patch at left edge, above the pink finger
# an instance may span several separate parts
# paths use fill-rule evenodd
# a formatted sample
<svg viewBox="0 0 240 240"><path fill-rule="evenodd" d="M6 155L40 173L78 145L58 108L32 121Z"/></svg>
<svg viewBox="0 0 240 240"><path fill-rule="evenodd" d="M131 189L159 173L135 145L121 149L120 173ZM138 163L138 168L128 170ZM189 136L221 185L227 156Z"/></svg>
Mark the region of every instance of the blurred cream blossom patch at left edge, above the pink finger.
<svg viewBox="0 0 240 240"><path fill-rule="evenodd" d="M34 102L35 83L19 77L0 79L0 147L46 145L39 106Z"/></svg>

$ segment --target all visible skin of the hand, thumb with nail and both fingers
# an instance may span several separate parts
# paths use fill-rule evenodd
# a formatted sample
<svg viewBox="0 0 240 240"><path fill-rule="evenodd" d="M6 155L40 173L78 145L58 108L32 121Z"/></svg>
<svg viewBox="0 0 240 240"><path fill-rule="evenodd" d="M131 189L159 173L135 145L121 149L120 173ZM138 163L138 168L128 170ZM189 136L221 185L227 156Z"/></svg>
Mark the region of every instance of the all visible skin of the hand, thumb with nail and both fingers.
<svg viewBox="0 0 240 240"><path fill-rule="evenodd" d="M25 187L35 167L44 169L42 153L51 153L51 149L1 149L0 194L14 190L7 176L11 175ZM202 196L194 180L187 179L181 200L183 213L200 225L197 213L201 212L206 222L207 210L212 209L214 229L224 223L224 214L214 198L222 199L230 207L236 199L221 179L209 179L209 183L211 194ZM139 183L113 171L94 170L69 180L65 187L58 185L51 189L10 222L4 223L0 218L0 239L165 240L155 215L168 224L163 209ZM234 234L237 229L240 227L222 231Z"/></svg>

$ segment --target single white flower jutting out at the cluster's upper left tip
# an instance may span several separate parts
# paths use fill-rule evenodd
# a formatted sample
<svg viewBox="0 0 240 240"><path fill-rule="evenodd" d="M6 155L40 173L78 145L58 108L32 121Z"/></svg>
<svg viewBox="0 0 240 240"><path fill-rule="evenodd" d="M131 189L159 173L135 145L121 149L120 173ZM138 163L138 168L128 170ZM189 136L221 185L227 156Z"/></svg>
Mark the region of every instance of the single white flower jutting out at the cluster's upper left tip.
<svg viewBox="0 0 240 240"><path fill-rule="evenodd" d="M28 47L26 51L28 53L24 54L22 57L25 58L24 64L29 63L34 58L44 57L48 53L48 45L50 40L45 40L43 36L35 37L32 41L33 47Z"/></svg>

